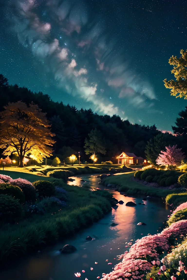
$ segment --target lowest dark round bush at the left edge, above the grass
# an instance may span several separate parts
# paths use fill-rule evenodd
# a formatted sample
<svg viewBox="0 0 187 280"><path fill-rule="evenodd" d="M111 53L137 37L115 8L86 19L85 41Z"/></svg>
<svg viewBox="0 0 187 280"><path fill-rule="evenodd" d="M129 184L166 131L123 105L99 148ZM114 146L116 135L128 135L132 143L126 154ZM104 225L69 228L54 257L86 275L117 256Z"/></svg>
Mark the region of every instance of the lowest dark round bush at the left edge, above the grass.
<svg viewBox="0 0 187 280"><path fill-rule="evenodd" d="M10 195L0 195L0 221L13 223L20 220L23 215L23 207L18 199Z"/></svg>

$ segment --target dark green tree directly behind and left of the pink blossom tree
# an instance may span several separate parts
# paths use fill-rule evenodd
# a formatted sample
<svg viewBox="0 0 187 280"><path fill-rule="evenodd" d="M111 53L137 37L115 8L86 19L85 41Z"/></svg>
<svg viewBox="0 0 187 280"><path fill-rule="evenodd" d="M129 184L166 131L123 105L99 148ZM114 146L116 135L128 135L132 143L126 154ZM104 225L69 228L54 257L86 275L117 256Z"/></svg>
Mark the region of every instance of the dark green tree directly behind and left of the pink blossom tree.
<svg viewBox="0 0 187 280"><path fill-rule="evenodd" d="M156 164L156 159L158 158L160 151L165 151L165 147L169 145L173 145L176 143L176 137L172 134L159 133L154 136L153 139L147 142L146 145L146 158L149 160L151 164Z"/></svg>

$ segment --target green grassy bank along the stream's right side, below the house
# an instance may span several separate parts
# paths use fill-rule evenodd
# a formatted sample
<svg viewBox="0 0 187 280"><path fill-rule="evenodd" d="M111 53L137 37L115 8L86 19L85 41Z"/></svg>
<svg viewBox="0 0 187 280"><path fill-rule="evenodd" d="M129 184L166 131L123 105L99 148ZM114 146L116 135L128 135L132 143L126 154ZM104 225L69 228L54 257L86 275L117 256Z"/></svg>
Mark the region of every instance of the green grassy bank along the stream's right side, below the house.
<svg viewBox="0 0 187 280"><path fill-rule="evenodd" d="M103 182L105 186L108 184L119 186L119 192L125 192L128 195L142 194L145 196L150 195L152 197L166 197L168 194L174 192L172 190L153 188L137 183L133 180L134 173L135 172L128 172L125 174L110 176L105 178Z"/></svg>

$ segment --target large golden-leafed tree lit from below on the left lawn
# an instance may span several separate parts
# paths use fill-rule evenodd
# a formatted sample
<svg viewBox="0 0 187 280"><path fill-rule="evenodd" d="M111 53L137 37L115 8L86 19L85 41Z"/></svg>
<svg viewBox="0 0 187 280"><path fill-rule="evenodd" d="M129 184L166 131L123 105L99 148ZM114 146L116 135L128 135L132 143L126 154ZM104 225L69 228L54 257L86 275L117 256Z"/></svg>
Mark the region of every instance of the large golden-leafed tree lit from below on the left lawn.
<svg viewBox="0 0 187 280"><path fill-rule="evenodd" d="M38 105L18 101L4 106L0 113L0 148L4 155L15 153L19 156L20 167L23 167L24 157L32 155L38 162L52 155L51 137L46 113L42 113Z"/></svg>

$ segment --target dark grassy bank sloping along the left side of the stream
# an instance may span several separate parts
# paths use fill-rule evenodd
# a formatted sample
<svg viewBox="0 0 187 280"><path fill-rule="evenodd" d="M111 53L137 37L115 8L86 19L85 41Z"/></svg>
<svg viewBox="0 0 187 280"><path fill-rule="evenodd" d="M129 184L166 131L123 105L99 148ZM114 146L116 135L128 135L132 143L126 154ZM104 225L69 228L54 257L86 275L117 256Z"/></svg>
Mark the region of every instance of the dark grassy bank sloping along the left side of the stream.
<svg viewBox="0 0 187 280"><path fill-rule="evenodd" d="M48 179L67 191L67 207L59 206L49 213L33 214L18 224L3 225L0 229L1 263L31 250L41 250L44 244L52 244L99 220L114 205L112 195L107 191L69 186L61 179Z"/></svg>

